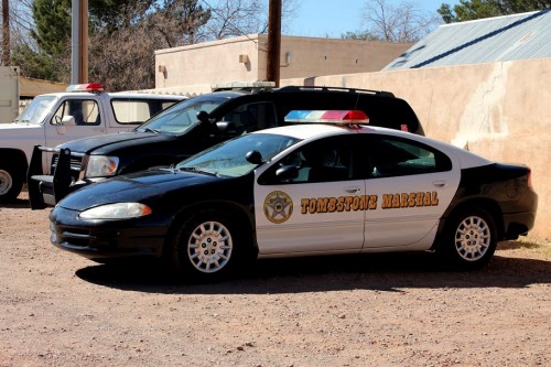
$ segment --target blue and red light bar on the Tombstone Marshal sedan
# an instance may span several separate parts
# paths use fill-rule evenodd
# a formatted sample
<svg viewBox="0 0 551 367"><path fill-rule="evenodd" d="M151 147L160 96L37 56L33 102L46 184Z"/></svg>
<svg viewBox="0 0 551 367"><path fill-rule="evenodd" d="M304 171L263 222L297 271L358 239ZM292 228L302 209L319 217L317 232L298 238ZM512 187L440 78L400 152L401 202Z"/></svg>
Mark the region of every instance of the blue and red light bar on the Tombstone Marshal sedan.
<svg viewBox="0 0 551 367"><path fill-rule="evenodd" d="M287 122L369 123L369 117L360 110L293 110L287 114Z"/></svg>

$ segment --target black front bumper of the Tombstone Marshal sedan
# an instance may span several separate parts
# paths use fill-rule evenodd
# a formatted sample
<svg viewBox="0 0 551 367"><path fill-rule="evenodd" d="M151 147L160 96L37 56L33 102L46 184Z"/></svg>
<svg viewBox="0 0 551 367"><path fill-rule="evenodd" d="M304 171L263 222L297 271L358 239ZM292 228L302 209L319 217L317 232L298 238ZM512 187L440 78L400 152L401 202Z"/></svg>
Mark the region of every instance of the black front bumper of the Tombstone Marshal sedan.
<svg viewBox="0 0 551 367"><path fill-rule="evenodd" d="M91 260L162 257L165 226L144 225L142 218L82 220L79 212L56 206L50 214L50 241Z"/></svg>

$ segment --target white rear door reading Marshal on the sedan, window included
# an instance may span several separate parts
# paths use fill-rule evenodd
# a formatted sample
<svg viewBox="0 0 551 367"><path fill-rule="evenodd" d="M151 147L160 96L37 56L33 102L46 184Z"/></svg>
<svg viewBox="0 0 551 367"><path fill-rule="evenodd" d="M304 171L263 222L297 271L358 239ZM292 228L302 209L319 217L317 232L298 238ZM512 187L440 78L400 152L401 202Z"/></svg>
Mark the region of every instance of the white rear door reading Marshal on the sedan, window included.
<svg viewBox="0 0 551 367"><path fill-rule="evenodd" d="M366 212L364 248L429 248L460 184L460 168L443 152L410 139L363 138L366 191L378 202L376 211Z"/></svg>

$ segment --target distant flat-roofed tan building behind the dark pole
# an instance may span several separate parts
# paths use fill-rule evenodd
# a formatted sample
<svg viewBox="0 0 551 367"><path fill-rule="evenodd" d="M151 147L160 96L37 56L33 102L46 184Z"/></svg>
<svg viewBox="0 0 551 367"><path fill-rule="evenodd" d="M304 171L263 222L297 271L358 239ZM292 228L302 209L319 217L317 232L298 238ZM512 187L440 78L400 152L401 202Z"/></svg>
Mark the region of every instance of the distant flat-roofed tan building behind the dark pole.
<svg viewBox="0 0 551 367"><path fill-rule="evenodd" d="M155 88L185 86L186 93L201 94L216 83L266 79L267 44L264 34L250 34L155 51ZM410 46L282 36L280 77L377 72ZM239 55L247 55L248 62L240 63Z"/></svg>

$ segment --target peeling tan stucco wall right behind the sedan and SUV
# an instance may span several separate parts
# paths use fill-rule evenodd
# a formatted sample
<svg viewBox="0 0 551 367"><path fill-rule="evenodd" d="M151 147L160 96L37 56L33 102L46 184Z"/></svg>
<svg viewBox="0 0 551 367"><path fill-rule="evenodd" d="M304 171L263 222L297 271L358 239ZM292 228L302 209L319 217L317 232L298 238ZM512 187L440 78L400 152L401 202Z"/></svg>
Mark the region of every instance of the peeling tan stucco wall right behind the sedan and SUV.
<svg viewBox="0 0 551 367"><path fill-rule="evenodd" d="M530 236L551 238L551 58L295 78L392 91L408 100L429 137L491 160L526 163L539 195Z"/></svg>

